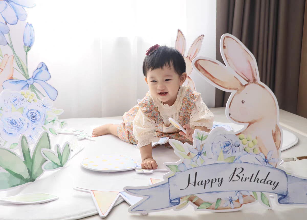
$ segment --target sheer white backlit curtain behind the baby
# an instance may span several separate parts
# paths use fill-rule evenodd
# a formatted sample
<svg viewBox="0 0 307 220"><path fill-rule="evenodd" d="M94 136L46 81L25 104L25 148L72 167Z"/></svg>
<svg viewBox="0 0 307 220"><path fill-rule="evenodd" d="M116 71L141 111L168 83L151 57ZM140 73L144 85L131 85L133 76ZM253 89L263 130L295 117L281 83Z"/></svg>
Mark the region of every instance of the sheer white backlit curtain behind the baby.
<svg viewBox="0 0 307 220"><path fill-rule="evenodd" d="M142 75L145 51L154 44L174 46L178 28L187 50L205 34L198 55L215 58L216 1L44 0L27 12L35 31L29 70L46 63L62 118L129 110L148 90ZM207 105L214 106L213 86L195 73L191 77Z"/></svg>

